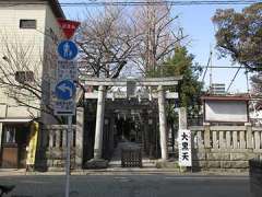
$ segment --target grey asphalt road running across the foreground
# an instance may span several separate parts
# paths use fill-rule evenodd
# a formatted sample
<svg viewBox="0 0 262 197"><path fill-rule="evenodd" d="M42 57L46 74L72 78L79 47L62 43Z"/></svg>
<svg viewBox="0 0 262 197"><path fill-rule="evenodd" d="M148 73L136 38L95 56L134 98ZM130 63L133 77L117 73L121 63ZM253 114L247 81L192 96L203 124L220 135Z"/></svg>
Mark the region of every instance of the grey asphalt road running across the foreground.
<svg viewBox="0 0 262 197"><path fill-rule="evenodd" d="M64 176L1 176L11 195L64 196ZM250 197L248 176L85 175L71 176L71 197Z"/></svg>

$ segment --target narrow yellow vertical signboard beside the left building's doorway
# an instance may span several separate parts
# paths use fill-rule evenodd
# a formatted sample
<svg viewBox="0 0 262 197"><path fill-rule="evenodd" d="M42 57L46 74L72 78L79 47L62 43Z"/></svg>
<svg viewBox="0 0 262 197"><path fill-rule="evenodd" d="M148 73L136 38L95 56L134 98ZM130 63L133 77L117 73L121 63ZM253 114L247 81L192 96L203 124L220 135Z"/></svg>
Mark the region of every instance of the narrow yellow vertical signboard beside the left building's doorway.
<svg viewBox="0 0 262 197"><path fill-rule="evenodd" d="M34 121L31 126L29 144L27 147L27 158L26 158L27 166L35 164L38 130L39 130L39 125L38 123Z"/></svg>

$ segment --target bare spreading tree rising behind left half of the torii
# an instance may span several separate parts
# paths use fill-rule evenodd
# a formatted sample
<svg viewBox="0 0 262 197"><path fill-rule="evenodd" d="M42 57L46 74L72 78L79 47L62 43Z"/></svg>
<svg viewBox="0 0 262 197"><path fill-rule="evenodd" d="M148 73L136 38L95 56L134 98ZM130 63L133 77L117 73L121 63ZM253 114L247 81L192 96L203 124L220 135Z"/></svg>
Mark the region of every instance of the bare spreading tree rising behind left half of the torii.
<svg viewBox="0 0 262 197"><path fill-rule="evenodd" d="M95 14L94 14L95 13ZM140 34L123 8L86 11L76 35L81 71L92 77L118 78L138 54Z"/></svg>

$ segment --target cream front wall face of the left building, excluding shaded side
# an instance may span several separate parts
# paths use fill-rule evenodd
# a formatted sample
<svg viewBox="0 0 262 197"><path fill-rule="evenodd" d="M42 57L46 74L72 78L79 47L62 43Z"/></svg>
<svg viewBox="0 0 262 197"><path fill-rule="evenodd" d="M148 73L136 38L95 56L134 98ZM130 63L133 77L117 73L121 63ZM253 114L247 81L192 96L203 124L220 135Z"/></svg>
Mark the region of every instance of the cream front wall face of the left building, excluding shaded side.
<svg viewBox="0 0 262 197"><path fill-rule="evenodd" d="M26 58L27 63L35 72L35 78L41 73L41 57L44 53L44 32L46 5L17 5L0 8L0 63L7 63L2 58L5 56L9 59L12 55L17 55L14 58L23 61ZM36 30L20 28L20 20L36 20ZM11 49L7 51L7 47ZM23 54L23 53L25 54ZM23 68L22 68L23 70ZM38 116L35 109L19 106L14 100L11 100L7 93L8 90L0 90L0 108L5 108L5 113L1 113L0 117L29 117L32 114ZM27 101L31 104L38 105L36 100ZM8 107L1 106L8 104Z"/></svg>

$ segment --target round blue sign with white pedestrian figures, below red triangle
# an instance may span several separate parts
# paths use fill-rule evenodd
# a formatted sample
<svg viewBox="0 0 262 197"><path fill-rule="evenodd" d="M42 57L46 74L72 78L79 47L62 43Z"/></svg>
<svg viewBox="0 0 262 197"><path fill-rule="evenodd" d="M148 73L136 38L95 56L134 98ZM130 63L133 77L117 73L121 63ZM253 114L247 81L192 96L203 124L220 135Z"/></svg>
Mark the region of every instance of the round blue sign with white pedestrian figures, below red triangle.
<svg viewBox="0 0 262 197"><path fill-rule="evenodd" d="M63 40L58 45L58 54L67 60L72 60L79 54L78 46L71 40Z"/></svg>

